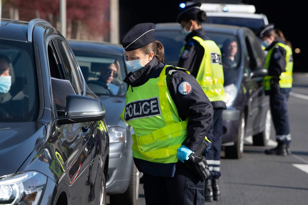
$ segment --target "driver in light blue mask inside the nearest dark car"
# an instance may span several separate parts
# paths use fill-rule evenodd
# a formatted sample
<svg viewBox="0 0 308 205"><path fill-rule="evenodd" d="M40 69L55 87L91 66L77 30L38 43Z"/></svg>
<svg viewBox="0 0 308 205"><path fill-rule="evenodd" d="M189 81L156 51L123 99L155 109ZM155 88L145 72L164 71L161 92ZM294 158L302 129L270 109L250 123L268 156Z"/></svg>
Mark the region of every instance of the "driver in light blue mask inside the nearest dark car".
<svg viewBox="0 0 308 205"><path fill-rule="evenodd" d="M0 54L0 103L10 100L8 93L11 87L10 60ZM1 105L0 105L1 106Z"/></svg>

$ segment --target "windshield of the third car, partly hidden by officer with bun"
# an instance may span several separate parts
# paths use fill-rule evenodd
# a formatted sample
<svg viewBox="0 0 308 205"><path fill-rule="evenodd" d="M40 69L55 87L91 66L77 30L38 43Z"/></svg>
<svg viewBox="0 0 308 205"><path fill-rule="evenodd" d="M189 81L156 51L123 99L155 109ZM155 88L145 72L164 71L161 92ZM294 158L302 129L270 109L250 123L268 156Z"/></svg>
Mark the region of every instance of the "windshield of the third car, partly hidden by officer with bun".
<svg viewBox="0 0 308 205"><path fill-rule="evenodd" d="M241 48L236 36L206 32L221 49L222 63L224 69L236 69L240 65ZM181 30L155 31L155 37L165 48L165 63L177 65L180 59L180 50L186 43Z"/></svg>

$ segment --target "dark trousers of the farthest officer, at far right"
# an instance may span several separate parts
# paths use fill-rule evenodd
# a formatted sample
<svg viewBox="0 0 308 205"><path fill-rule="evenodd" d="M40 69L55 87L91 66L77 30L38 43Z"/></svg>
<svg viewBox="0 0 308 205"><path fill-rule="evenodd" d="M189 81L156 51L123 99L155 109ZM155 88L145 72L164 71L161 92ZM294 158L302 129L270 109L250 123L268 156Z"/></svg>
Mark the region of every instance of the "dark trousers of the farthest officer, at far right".
<svg viewBox="0 0 308 205"><path fill-rule="evenodd" d="M287 101L290 88L279 88L278 83L271 83L270 108L278 142L289 144L291 137ZM282 136L281 140L279 136ZM288 136L288 137L286 137Z"/></svg>

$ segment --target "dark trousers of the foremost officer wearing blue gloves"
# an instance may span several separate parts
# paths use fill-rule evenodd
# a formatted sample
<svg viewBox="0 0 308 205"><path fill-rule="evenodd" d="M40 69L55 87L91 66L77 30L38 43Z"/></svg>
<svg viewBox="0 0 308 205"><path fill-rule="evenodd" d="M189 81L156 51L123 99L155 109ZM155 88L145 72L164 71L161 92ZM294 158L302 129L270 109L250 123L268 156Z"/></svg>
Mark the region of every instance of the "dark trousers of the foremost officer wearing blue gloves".
<svg viewBox="0 0 308 205"><path fill-rule="evenodd" d="M144 174L144 196L147 205L199 205L204 204L205 183L188 170L182 162L177 163L174 177Z"/></svg>

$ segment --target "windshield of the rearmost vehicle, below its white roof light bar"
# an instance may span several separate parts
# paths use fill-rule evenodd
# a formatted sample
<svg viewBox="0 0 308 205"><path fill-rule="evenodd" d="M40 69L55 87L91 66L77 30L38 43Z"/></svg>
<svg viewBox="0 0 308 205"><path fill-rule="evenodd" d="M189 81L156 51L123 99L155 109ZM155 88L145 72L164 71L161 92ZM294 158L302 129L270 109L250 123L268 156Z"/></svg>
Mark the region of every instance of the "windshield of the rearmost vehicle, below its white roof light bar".
<svg viewBox="0 0 308 205"><path fill-rule="evenodd" d="M222 16L209 16L205 23L225 24L233 26L245 26L257 33L261 26L264 26L262 18L241 18L241 17L222 17Z"/></svg>

